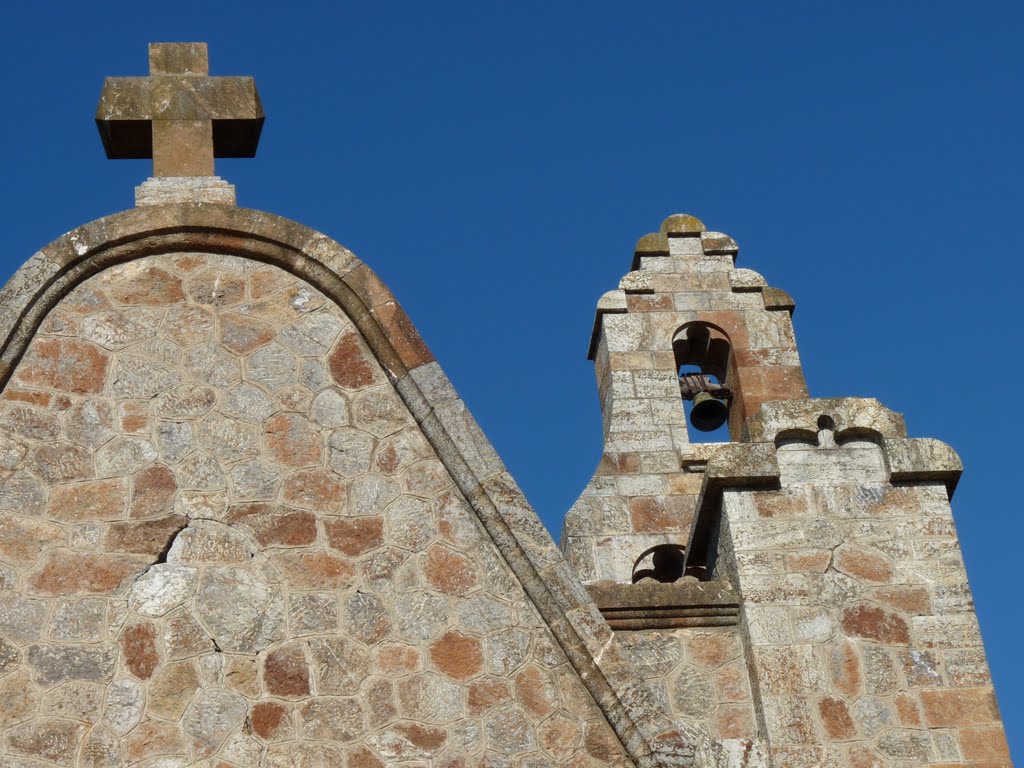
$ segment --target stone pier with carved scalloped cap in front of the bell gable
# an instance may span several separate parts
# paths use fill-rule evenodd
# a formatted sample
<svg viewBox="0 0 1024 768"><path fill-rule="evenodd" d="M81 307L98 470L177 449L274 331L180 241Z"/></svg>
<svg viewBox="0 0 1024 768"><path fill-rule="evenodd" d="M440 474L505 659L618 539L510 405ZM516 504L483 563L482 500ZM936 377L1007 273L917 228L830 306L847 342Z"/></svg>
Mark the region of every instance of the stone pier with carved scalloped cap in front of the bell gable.
<svg viewBox="0 0 1024 768"><path fill-rule="evenodd" d="M872 401L762 417L780 488L726 488L721 547L772 764L1010 766L949 507L955 456Z"/></svg>

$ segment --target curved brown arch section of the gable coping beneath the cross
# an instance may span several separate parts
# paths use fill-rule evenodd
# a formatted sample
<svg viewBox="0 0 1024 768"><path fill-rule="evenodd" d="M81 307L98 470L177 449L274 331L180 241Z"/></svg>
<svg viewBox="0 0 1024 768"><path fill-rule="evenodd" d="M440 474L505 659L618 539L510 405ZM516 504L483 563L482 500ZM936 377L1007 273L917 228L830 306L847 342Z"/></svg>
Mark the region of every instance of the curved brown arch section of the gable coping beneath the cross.
<svg viewBox="0 0 1024 768"><path fill-rule="evenodd" d="M0 386L46 314L78 284L114 264L175 251L243 256L280 266L306 281L352 318L392 381L433 360L380 279L326 236L247 209L154 206L79 227L35 254L14 273L0 292L4 307Z"/></svg>

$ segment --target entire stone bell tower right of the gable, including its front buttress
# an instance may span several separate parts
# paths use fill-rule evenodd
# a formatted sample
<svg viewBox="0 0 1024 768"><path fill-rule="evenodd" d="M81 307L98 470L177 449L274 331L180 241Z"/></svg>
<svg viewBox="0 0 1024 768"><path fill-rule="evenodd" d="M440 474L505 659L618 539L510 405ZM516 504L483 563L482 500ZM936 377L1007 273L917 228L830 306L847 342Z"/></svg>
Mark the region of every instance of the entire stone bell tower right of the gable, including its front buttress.
<svg viewBox="0 0 1024 768"><path fill-rule="evenodd" d="M958 458L878 400L811 398L794 302L737 250L670 216L601 297L604 451L563 552L660 707L737 765L1010 766Z"/></svg>

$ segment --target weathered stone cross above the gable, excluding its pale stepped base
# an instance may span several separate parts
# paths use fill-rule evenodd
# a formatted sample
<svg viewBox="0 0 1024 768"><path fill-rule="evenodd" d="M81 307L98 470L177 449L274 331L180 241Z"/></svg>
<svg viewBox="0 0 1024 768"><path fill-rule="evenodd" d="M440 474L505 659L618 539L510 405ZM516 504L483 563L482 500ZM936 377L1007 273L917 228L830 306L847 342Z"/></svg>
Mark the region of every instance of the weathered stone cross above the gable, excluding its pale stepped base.
<svg viewBox="0 0 1024 768"><path fill-rule="evenodd" d="M206 43L151 43L150 77L106 78L96 127L111 160L153 158L154 176L212 176L256 155L263 106L250 77L210 77Z"/></svg>

